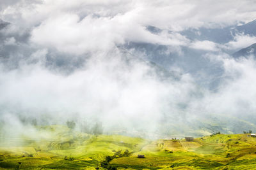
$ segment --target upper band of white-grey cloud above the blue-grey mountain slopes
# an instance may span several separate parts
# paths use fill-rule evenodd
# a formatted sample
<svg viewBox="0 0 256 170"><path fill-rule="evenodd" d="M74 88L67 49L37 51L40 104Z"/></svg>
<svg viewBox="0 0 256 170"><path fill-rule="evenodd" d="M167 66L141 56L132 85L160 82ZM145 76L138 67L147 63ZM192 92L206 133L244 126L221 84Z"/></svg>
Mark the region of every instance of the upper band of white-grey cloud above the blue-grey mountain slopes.
<svg viewBox="0 0 256 170"><path fill-rule="evenodd" d="M31 42L61 52L81 54L109 50L125 41L188 45L177 31L220 27L256 17L255 1L19 1L1 11L1 18L33 29ZM151 34L153 25L164 31ZM168 32L172 31L172 32ZM200 43L200 44L199 44ZM204 45L202 44L204 43ZM195 42L216 50L209 42ZM237 48L234 42L228 48Z"/></svg>

